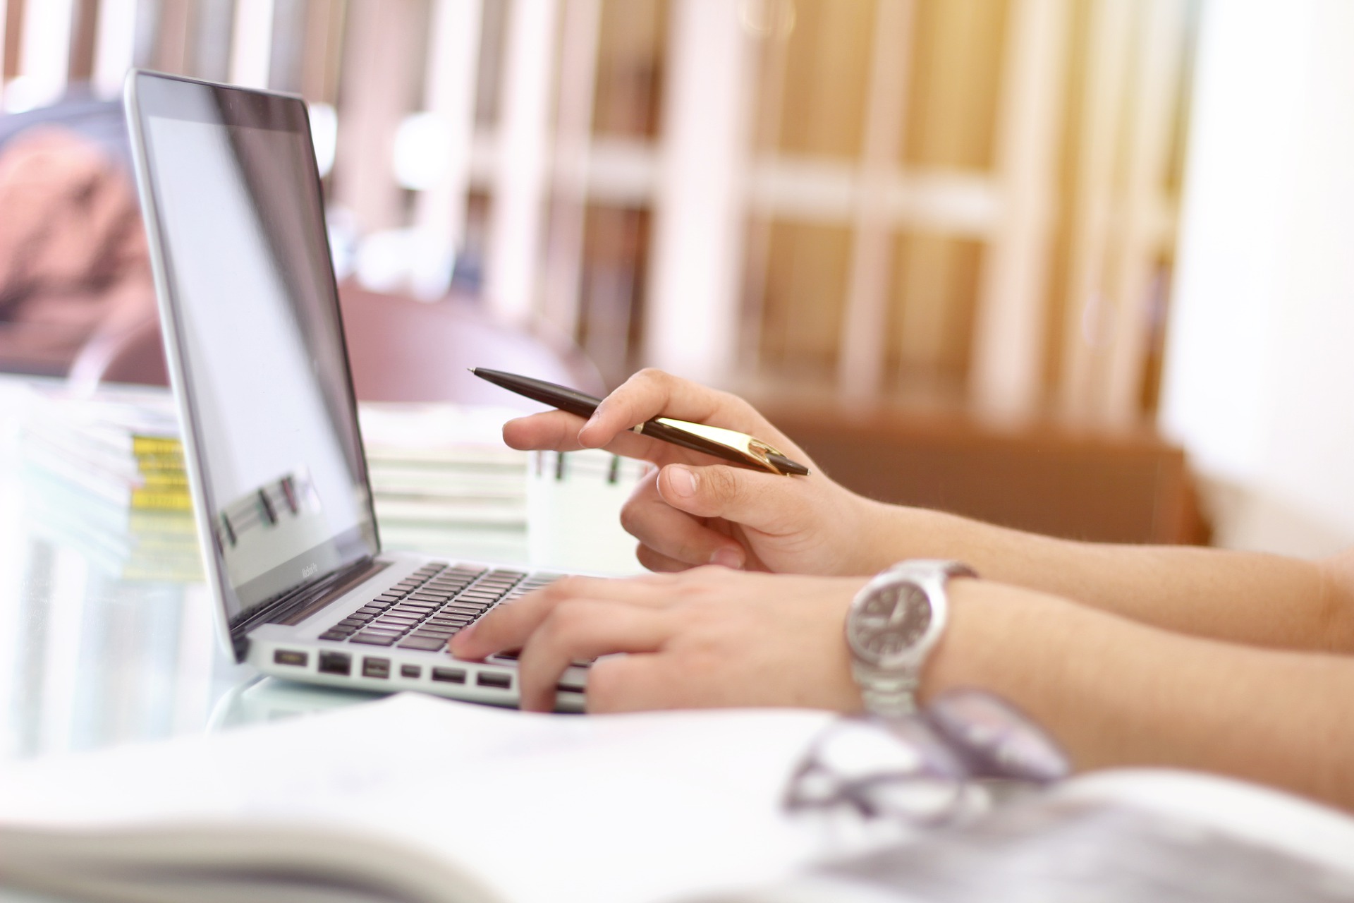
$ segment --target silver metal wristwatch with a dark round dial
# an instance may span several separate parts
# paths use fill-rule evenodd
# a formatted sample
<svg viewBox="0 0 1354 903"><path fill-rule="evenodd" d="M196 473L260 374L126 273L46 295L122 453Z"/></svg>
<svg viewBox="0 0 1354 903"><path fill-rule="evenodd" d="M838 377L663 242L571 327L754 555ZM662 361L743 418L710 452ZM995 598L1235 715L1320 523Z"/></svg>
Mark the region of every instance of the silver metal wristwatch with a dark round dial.
<svg viewBox="0 0 1354 903"><path fill-rule="evenodd" d="M868 711L895 716L917 708L922 665L949 616L945 583L952 577L978 573L963 562L914 558L856 593L846 613L846 646Z"/></svg>

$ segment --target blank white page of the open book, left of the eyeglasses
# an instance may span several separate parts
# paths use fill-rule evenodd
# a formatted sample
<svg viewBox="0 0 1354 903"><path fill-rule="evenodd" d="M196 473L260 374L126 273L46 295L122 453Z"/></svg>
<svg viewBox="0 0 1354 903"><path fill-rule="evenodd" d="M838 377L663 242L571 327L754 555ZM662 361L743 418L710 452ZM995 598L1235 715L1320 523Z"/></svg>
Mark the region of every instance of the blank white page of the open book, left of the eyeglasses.
<svg viewBox="0 0 1354 903"><path fill-rule="evenodd" d="M528 715L401 695L0 776L0 822L351 827L432 850L509 900L677 899L819 850L780 796L830 715Z"/></svg>

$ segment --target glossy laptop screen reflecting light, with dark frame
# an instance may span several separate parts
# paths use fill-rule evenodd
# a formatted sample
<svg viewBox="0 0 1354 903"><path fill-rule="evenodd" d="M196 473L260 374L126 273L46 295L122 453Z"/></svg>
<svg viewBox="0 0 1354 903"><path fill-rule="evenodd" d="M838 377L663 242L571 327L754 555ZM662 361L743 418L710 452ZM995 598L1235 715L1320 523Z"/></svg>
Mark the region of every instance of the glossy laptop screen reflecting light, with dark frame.
<svg viewBox="0 0 1354 903"><path fill-rule="evenodd" d="M320 179L299 99L133 77L195 504L234 623L378 551Z"/></svg>

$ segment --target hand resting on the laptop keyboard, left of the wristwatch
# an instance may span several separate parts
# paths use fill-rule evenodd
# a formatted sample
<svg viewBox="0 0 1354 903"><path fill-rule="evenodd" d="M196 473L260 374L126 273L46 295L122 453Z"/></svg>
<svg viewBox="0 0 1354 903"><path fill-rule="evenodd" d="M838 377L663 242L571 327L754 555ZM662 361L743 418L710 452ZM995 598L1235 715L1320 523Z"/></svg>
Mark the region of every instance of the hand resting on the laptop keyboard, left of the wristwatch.
<svg viewBox="0 0 1354 903"><path fill-rule="evenodd" d="M601 655L588 711L798 705L854 711L844 639L860 578L701 567L630 579L566 577L458 634L464 659L521 648L521 707L550 711L570 662ZM611 655L628 653L627 655Z"/></svg>

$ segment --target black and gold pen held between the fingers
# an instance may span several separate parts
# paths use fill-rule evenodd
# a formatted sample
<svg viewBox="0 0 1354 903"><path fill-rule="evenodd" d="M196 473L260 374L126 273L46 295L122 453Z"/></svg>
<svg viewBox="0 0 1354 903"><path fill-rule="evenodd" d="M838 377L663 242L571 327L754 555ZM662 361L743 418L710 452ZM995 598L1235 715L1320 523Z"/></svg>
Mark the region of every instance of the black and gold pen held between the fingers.
<svg viewBox="0 0 1354 903"><path fill-rule="evenodd" d="M501 370L486 370L483 367L471 367L470 372L519 395L539 401L551 408L558 408L559 410L567 410L570 414L578 414L584 418L592 417L593 412L597 410L597 405L601 403L601 398L565 386L556 386L555 383L547 383L543 379L505 374ZM631 429L642 436L659 439L673 445L691 448L692 451L705 452L707 455L714 455L715 458L722 458L745 467L756 467L757 470L783 475L796 474L804 477L808 474L807 467L785 458L772 445L734 429L692 424L672 417L646 420L636 426L631 426Z"/></svg>

